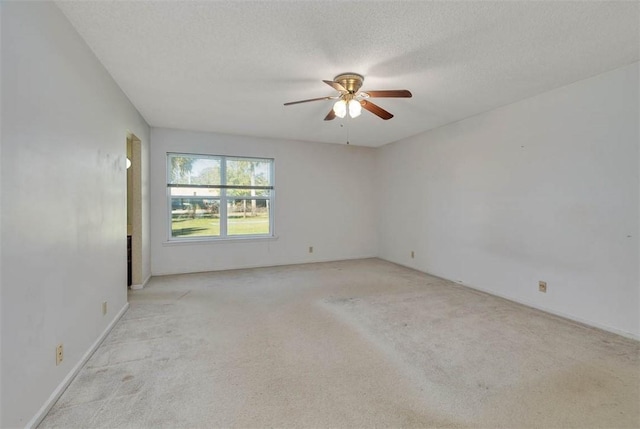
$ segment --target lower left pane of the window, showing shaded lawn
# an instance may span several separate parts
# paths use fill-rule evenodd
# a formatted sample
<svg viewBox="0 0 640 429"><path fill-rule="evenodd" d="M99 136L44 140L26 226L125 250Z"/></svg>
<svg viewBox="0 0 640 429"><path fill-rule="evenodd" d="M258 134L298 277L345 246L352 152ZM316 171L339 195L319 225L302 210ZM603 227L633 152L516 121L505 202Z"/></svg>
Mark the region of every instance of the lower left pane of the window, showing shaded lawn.
<svg viewBox="0 0 640 429"><path fill-rule="evenodd" d="M220 200L171 198L171 237L220 235Z"/></svg>

